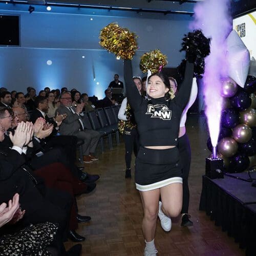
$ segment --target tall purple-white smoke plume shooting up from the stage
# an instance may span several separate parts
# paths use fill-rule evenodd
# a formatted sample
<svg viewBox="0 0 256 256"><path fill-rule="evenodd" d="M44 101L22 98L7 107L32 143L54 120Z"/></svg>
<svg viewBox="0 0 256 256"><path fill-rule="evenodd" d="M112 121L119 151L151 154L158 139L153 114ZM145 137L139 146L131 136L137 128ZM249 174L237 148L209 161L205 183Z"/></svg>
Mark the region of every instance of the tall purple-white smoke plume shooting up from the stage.
<svg viewBox="0 0 256 256"><path fill-rule="evenodd" d="M205 114L212 146L216 146L220 132L222 97L221 78L227 77L225 40L231 31L229 0L205 0L195 7L195 20L190 29L200 29L211 38L210 55L205 58L203 77Z"/></svg>

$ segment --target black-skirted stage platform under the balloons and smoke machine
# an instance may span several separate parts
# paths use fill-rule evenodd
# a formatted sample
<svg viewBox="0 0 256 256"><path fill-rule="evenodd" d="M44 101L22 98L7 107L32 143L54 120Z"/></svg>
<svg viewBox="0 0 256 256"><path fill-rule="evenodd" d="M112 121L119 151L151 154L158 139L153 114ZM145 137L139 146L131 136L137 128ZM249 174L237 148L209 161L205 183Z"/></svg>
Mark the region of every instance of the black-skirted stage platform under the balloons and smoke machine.
<svg viewBox="0 0 256 256"><path fill-rule="evenodd" d="M248 173L231 174L248 179ZM256 173L251 173L256 179ZM200 210L206 211L215 225L222 226L228 236L256 255L256 187L251 182L224 176L214 179L203 176Z"/></svg>

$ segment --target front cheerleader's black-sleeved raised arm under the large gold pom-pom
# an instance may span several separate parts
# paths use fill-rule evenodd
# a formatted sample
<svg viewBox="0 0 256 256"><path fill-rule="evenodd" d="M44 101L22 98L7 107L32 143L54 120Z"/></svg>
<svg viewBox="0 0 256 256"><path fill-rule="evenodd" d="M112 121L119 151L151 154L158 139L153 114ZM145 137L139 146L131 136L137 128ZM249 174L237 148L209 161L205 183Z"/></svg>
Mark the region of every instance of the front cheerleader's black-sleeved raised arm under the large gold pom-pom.
<svg viewBox="0 0 256 256"><path fill-rule="evenodd" d="M124 82L126 88L127 100L131 104L133 110L137 110L142 103L141 97L136 85L133 82L132 61L125 59L123 62Z"/></svg>

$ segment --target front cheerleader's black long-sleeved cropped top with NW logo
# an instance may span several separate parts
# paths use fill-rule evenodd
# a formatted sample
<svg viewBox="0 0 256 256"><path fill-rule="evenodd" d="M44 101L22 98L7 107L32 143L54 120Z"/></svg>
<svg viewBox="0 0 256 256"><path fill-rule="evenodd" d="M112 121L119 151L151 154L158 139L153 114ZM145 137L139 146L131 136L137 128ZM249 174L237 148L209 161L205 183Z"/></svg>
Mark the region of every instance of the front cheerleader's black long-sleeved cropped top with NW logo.
<svg viewBox="0 0 256 256"><path fill-rule="evenodd" d="M126 94L134 111L141 146L177 145L180 118L189 100L193 73L194 64L187 61L184 81L174 99L144 99L133 82L131 60L124 60Z"/></svg>

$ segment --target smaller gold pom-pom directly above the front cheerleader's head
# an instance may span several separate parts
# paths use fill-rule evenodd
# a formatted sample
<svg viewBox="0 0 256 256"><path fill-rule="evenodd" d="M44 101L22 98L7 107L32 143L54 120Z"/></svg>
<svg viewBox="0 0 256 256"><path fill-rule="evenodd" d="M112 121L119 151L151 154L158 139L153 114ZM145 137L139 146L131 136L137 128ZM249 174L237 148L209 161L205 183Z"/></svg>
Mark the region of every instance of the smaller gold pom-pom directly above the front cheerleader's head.
<svg viewBox="0 0 256 256"><path fill-rule="evenodd" d="M159 49L147 52L140 57L140 69L143 73L147 70L152 73L160 72L166 64L167 57Z"/></svg>

